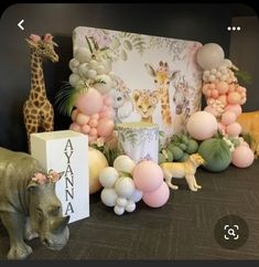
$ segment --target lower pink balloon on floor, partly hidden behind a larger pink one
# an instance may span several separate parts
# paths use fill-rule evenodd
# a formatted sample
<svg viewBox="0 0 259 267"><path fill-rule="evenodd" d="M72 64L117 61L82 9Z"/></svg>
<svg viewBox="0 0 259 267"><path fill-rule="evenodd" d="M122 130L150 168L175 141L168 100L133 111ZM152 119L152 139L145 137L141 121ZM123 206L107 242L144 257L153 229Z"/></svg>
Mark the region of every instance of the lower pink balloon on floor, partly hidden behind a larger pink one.
<svg viewBox="0 0 259 267"><path fill-rule="evenodd" d="M165 182L152 192L144 192L142 200L143 202L151 207L160 207L164 205L170 196L170 190Z"/></svg>

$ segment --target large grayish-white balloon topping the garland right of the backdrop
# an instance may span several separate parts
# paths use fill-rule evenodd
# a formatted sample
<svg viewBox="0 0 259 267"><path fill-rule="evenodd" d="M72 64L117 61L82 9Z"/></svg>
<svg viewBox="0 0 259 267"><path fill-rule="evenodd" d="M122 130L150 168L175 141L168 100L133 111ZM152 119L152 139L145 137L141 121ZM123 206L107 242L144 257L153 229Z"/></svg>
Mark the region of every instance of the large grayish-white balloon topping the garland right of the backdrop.
<svg viewBox="0 0 259 267"><path fill-rule="evenodd" d="M197 63L203 70L212 70L222 65L224 61L224 51L216 43L203 45L196 54Z"/></svg>

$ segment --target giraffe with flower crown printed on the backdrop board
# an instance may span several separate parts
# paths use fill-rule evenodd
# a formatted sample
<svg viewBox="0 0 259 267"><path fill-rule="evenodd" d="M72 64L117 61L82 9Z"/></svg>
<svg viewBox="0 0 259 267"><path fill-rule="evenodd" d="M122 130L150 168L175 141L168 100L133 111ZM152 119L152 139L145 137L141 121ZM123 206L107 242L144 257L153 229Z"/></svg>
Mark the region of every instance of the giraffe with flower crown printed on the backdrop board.
<svg viewBox="0 0 259 267"><path fill-rule="evenodd" d="M161 115L165 125L172 124L171 110L170 110L170 96L169 87L172 79L175 78L176 72L171 72L168 62L160 61L159 67L155 70L150 64L144 64L148 73L154 78L155 89L159 93L161 102Z"/></svg>

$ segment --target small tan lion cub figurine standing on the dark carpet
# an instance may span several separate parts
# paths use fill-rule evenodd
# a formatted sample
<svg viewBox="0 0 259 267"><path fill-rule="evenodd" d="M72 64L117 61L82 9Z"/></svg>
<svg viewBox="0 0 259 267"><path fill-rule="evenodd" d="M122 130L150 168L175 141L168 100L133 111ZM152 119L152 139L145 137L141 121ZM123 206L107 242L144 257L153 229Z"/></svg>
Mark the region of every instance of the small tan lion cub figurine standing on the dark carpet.
<svg viewBox="0 0 259 267"><path fill-rule="evenodd" d="M205 164L205 160L201 154L194 153L191 154L185 162L164 162L160 164L160 167L169 188L174 190L179 189L177 185L172 184L172 178L185 178L190 190L197 191L198 189L202 189L202 186L196 182L195 172L202 164Z"/></svg>

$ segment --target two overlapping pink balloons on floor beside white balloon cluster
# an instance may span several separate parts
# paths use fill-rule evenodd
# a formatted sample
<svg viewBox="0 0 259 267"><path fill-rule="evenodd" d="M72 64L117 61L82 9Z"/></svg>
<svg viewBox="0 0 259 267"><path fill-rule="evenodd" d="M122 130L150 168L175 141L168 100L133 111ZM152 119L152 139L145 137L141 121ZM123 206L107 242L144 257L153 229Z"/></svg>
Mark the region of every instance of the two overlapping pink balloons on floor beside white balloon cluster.
<svg viewBox="0 0 259 267"><path fill-rule="evenodd" d="M164 205L170 196L170 190L163 181L161 168L150 160L141 161L133 169L133 181L138 190L143 192L143 202L151 207Z"/></svg>

